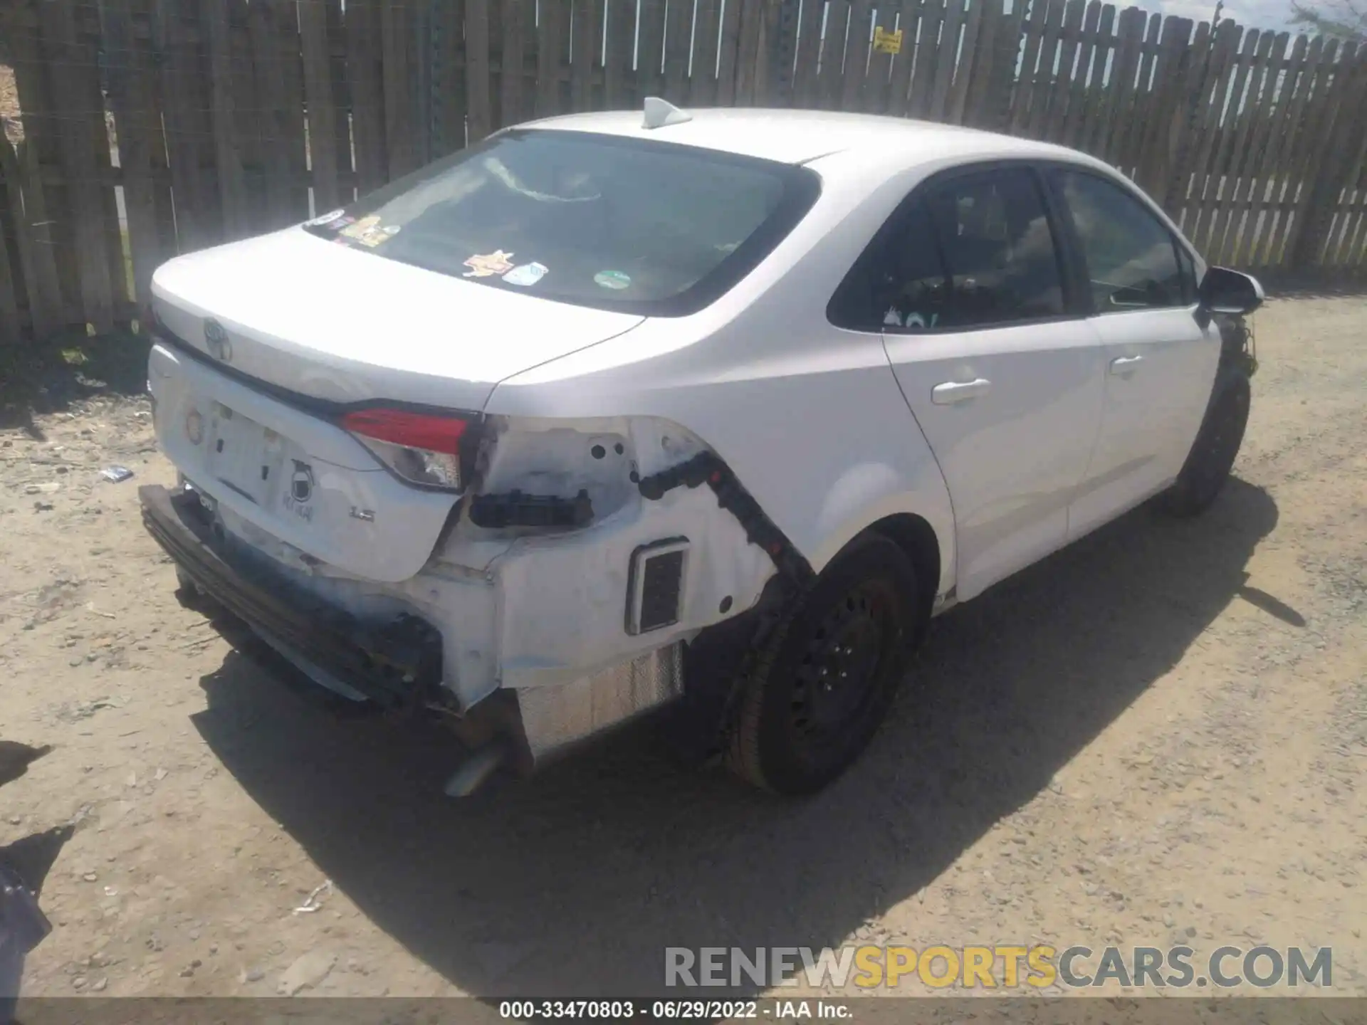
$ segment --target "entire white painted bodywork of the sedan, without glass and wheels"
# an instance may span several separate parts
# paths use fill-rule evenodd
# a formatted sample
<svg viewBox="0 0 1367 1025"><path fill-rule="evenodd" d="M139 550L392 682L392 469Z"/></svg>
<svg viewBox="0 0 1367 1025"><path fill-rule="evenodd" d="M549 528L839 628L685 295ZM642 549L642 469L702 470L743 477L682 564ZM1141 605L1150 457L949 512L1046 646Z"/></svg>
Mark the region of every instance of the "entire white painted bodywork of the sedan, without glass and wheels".
<svg viewBox="0 0 1367 1025"><path fill-rule="evenodd" d="M775 560L716 496L679 487L648 500L636 487L699 452L725 461L817 573L887 517L924 521L939 548L939 611L1165 487L1191 447L1219 346L1184 333L1189 310L1165 312L1172 331L1161 338L1128 314L917 336L827 320L839 282L927 176L1043 159L1125 184L1099 161L965 128L797 111L700 111L658 131L634 112L525 127L807 163L823 191L753 271L681 317L514 294L302 228L180 257L153 279L157 313L182 346L204 353L205 318L221 323L234 374L331 403L480 413L493 432L481 493L588 492L593 519L581 529L478 528L457 495L405 485L334 422L208 357L153 350L159 439L217 500L227 530L338 608L425 618L462 709L499 687L530 694L588 679L593 694L629 705L611 690L621 667L632 676L663 664L660 652L755 607ZM1107 376L1115 354L1140 350L1155 372L1137 387ZM992 383L987 395L931 402L936 384L976 377ZM293 446L283 458L314 467L310 521L279 493L223 484L182 426L191 406L212 403L276 432ZM633 636L629 560L673 537L689 543L679 619Z"/></svg>

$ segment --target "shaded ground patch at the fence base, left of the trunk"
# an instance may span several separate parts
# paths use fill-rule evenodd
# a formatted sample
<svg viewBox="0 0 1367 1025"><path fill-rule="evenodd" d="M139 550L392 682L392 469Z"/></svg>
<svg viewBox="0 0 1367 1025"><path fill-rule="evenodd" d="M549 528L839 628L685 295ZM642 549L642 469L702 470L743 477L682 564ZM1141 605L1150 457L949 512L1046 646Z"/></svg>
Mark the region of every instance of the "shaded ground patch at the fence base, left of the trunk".
<svg viewBox="0 0 1367 1025"><path fill-rule="evenodd" d="M131 332L71 332L0 350L0 429L19 428L41 439L34 417L97 395L142 395L146 387L148 342Z"/></svg>

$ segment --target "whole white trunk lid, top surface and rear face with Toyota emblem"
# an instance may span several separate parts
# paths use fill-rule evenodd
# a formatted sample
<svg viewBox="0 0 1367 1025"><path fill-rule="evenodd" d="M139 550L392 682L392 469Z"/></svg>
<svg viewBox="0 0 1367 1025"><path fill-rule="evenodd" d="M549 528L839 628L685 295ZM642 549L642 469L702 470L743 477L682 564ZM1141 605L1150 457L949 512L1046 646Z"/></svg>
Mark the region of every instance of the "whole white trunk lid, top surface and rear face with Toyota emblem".
<svg viewBox="0 0 1367 1025"><path fill-rule="evenodd" d="M267 555L383 582L422 569L458 495L406 484L335 415L276 390L473 414L504 377L642 320L447 277L298 228L172 260L153 295L160 333L201 354L153 346L148 377L167 456Z"/></svg>

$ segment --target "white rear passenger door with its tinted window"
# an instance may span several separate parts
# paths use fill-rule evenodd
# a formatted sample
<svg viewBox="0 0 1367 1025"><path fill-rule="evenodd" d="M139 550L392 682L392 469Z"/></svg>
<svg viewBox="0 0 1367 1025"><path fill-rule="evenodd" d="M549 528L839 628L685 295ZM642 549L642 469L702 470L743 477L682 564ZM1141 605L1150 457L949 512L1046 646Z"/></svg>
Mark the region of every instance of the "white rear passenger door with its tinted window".
<svg viewBox="0 0 1367 1025"><path fill-rule="evenodd" d="M1102 373L1066 282L1042 183L1025 165L923 184L846 280L837 316L882 329L945 474L961 600L1068 534L1068 503L1100 421Z"/></svg>

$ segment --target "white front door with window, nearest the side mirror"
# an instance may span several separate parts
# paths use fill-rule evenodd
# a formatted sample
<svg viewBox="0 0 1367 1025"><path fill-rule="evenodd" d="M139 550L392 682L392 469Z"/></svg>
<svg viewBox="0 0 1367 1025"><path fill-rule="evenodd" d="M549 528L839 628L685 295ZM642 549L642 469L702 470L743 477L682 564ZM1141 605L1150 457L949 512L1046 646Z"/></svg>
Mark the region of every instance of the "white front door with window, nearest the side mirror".
<svg viewBox="0 0 1367 1025"><path fill-rule="evenodd" d="M1054 168L1050 179L1085 264L1106 368L1096 450L1069 511L1073 538L1181 470L1210 398L1219 332L1197 316L1185 243L1129 186L1085 168Z"/></svg>

